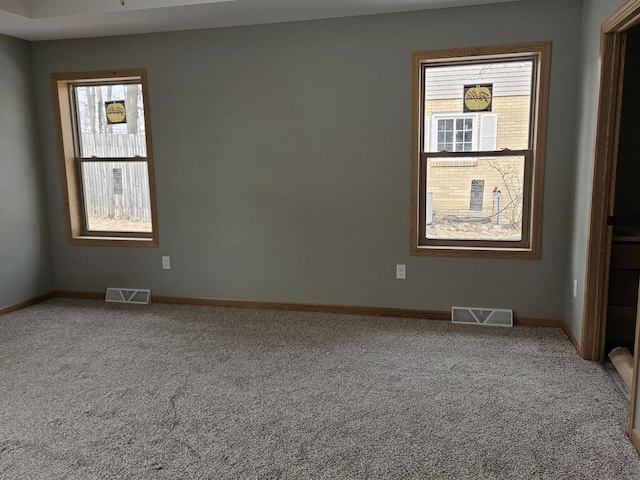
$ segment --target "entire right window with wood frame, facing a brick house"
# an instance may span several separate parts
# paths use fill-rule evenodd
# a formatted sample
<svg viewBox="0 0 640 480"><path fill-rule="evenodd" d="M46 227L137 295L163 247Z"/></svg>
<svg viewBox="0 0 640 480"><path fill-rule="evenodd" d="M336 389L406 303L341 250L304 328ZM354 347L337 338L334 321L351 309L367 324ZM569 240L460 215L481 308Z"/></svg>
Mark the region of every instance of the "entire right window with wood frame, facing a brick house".
<svg viewBox="0 0 640 480"><path fill-rule="evenodd" d="M414 52L413 255L540 257L550 54Z"/></svg>

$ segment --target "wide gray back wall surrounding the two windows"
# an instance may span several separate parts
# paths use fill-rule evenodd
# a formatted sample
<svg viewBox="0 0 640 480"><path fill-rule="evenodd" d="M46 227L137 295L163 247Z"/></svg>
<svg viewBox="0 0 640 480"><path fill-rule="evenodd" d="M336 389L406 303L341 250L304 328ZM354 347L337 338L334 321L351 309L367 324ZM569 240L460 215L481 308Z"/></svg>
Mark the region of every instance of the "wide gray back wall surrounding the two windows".
<svg viewBox="0 0 640 480"><path fill-rule="evenodd" d="M528 0L35 43L56 287L561 318L580 18L579 0ZM544 40L542 259L410 257L411 52ZM134 67L149 74L160 248L68 246L49 76Z"/></svg>

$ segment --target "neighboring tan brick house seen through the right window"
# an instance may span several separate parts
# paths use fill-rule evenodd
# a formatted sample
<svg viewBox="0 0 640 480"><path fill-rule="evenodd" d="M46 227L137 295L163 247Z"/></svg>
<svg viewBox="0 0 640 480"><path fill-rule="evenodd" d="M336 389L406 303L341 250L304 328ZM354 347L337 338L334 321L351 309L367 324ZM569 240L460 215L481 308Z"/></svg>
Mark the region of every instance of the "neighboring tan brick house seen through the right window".
<svg viewBox="0 0 640 480"><path fill-rule="evenodd" d="M425 85L425 151L527 148L532 74L530 62L430 69ZM465 87L474 85L484 86L491 95L480 111L464 108ZM431 159L427 202L432 222L490 223L519 231L523 170L523 157Z"/></svg>

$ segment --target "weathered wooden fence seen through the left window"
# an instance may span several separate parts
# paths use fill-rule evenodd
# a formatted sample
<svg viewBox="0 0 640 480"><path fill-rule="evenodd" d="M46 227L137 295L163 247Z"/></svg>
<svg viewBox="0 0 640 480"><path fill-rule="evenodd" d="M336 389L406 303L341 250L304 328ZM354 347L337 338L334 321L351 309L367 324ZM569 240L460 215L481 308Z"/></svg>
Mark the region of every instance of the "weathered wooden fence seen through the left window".
<svg viewBox="0 0 640 480"><path fill-rule="evenodd" d="M83 157L146 156L142 134L83 134ZM147 162L85 161L82 164L87 215L99 218L151 222Z"/></svg>

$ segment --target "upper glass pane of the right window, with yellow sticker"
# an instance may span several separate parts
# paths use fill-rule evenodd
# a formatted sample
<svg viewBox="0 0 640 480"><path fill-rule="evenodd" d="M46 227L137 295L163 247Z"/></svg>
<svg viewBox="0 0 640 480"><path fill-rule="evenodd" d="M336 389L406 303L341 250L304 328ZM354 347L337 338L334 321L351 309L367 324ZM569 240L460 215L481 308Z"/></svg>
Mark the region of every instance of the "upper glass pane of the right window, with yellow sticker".
<svg viewBox="0 0 640 480"><path fill-rule="evenodd" d="M532 60L426 66L424 75L425 122L435 119L438 131L450 122L450 130L455 126L456 131L470 131L479 139L477 145L459 146L456 151L529 149ZM486 102L470 102L474 96ZM471 140L465 137L467 141ZM427 152L440 151L438 147L433 140L425 142Z"/></svg>

